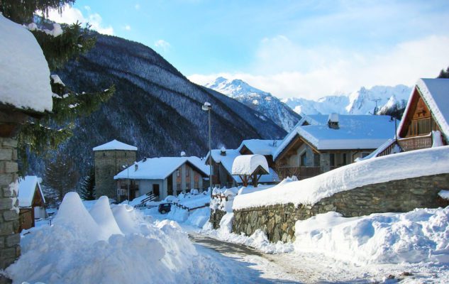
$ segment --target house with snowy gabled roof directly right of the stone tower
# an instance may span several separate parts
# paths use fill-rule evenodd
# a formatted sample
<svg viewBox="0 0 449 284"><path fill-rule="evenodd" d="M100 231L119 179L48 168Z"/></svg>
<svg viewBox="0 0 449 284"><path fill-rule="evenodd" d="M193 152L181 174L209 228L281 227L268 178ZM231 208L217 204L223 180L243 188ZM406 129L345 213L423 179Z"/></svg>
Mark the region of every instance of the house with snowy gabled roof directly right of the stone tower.
<svg viewBox="0 0 449 284"><path fill-rule="evenodd" d="M122 170L114 178L118 200L133 200L141 195L155 195L164 200L192 189L202 191L209 167L198 157L143 158ZM129 188L129 192L128 192Z"/></svg>

